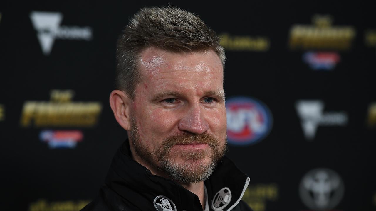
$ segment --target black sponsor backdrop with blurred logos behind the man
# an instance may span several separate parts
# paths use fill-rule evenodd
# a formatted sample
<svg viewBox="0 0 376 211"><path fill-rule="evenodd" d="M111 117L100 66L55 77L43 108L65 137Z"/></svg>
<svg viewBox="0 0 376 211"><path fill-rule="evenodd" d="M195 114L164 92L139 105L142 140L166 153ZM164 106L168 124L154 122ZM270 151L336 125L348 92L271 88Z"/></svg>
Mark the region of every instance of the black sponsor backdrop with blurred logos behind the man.
<svg viewBox="0 0 376 211"><path fill-rule="evenodd" d="M108 103L115 44L144 5L167 4L0 4L2 210L77 211L98 194L126 139ZM243 199L255 211L376 210L372 7L177 6L222 36Z"/></svg>

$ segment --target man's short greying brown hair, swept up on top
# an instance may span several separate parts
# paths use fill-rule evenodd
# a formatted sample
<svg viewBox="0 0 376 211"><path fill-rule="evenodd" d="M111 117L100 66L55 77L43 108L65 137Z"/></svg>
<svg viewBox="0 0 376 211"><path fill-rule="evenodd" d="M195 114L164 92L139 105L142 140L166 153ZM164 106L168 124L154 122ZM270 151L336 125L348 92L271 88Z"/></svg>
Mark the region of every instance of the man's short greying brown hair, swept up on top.
<svg viewBox="0 0 376 211"><path fill-rule="evenodd" d="M117 42L115 89L135 97L140 82L138 59L146 47L174 53L213 50L223 68L225 55L220 38L196 15L177 7L142 8L122 31Z"/></svg>

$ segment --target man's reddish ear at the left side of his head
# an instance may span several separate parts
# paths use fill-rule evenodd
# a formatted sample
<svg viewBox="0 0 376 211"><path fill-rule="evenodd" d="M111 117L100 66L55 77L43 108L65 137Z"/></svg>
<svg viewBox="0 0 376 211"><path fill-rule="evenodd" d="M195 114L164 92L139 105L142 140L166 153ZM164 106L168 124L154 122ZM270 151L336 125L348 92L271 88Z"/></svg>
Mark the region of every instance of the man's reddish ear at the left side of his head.
<svg viewBox="0 0 376 211"><path fill-rule="evenodd" d="M130 131L130 99L127 94L121 90L113 90L110 94L110 106L119 125Z"/></svg>

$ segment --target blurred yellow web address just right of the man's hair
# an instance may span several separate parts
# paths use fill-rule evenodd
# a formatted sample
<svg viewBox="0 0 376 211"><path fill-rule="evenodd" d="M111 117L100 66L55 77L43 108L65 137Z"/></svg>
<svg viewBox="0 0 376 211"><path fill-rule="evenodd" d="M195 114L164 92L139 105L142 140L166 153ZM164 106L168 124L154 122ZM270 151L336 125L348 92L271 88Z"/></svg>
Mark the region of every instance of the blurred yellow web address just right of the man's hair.
<svg viewBox="0 0 376 211"><path fill-rule="evenodd" d="M270 40L264 36L232 36L227 33L219 36L226 51L268 51L270 48Z"/></svg>

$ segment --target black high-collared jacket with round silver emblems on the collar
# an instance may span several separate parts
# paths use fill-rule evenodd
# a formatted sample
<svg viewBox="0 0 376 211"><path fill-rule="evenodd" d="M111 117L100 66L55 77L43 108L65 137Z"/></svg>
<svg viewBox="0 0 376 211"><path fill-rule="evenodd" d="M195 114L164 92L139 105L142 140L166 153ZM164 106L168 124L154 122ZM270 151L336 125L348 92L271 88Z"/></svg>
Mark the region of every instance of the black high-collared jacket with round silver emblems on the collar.
<svg viewBox="0 0 376 211"><path fill-rule="evenodd" d="M205 181L210 211L252 211L241 200L249 177L226 156ZM82 211L202 211L199 197L176 182L152 175L132 159L128 140L118 149L99 196Z"/></svg>

